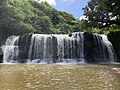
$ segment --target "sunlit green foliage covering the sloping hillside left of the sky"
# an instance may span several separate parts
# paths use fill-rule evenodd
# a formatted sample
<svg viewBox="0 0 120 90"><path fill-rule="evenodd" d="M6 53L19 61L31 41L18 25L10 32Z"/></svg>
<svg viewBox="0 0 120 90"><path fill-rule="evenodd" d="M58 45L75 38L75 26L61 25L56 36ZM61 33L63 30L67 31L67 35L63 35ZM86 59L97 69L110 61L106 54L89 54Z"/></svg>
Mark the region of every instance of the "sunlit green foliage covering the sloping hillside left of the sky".
<svg viewBox="0 0 120 90"><path fill-rule="evenodd" d="M38 3L34 0L0 1L0 30L21 33L65 34L79 31L80 23L71 14L57 11L47 2Z"/></svg>

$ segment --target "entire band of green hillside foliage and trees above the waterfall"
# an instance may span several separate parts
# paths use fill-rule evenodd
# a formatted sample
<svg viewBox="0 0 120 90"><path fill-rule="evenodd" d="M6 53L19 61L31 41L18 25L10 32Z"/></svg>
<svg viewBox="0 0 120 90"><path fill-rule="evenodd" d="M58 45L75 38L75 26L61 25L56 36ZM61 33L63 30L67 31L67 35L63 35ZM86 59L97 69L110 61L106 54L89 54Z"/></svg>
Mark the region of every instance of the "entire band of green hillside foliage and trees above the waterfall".
<svg viewBox="0 0 120 90"><path fill-rule="evenodd" d="M34 0L1 0L0 32L21 33L72 33L87 31L109 33L120 30L120 1L90 0L83 8L87 20L58 11L47 2Z"/></svg>

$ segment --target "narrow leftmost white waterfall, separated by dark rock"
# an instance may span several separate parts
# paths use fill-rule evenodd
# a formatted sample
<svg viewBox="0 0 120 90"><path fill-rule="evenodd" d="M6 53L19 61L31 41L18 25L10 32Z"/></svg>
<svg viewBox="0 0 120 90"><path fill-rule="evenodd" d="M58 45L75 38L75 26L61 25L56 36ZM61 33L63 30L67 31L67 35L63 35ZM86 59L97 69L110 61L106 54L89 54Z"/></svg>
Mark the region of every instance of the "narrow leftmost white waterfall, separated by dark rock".
<svg viewBox="0 0 120 90"><path fill-rule="evenodd" d="M2 46L4 63L17 62L19 54L18 39L19 36L10 36L7 38L5 45Z"/></svg>

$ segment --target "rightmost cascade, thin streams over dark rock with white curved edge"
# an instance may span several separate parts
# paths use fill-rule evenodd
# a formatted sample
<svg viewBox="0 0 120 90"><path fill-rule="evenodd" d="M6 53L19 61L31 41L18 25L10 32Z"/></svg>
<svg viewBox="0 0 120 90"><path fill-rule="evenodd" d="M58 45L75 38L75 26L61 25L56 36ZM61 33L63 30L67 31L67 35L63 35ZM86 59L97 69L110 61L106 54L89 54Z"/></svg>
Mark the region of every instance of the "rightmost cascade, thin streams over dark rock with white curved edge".
<svg viewBox="0 0 120 90"><path fill-rule="evenodd" d="M93 34L94 40L94 59L97 62L114 62L115 56L112 44L106 35Z"/></svg>

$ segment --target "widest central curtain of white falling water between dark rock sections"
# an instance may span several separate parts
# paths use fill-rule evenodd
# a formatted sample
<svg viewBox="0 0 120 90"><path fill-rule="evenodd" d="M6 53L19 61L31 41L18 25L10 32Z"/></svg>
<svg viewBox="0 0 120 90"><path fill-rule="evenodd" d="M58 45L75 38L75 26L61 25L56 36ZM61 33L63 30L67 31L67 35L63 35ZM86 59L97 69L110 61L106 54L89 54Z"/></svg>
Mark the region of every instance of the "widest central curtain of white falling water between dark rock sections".
<svg viewBox="0 0 120 90"><path fill-rule="evenodd" d="M82 32L75 33L72 37L69 37L68 35L34 34L31 38L31 45L28 52L28 62L83 62L83 50Z"/></svg>

